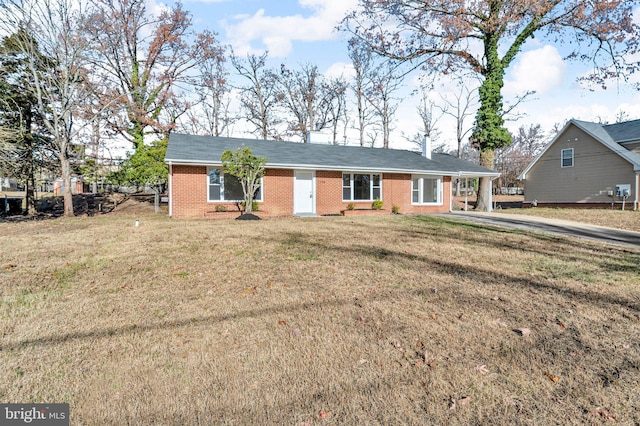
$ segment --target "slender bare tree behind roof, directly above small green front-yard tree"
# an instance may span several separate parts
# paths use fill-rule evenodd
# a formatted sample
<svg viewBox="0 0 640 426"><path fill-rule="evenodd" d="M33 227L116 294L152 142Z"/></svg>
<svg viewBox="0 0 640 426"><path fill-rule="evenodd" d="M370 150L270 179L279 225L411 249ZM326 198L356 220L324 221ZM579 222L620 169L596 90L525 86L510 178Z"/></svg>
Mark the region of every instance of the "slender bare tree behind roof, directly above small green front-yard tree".
<svg viewBox="0 0 640 426"><path fill-rule="evenodd" d="M239 86L240 102L246 115L244 118L254 127L253 132L261 139L280 139L276 126L279 123L275 108L278 104L276 76L266 68L268 52L260 56L247 55L246 61L231 56L231 63L240 77L248 84Z"/></svg>

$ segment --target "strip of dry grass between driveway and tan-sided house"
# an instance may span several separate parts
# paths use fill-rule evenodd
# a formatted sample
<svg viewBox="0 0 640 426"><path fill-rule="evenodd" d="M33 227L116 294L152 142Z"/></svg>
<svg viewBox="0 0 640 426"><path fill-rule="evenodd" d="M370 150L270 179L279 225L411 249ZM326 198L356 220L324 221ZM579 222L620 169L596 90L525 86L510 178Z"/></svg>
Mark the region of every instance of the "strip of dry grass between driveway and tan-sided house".
<svg viewBox="0 0 640 426"><path fill-rule="evenodd" d="M640 213L631 210L633 205L628 207L629 210L625 211L609 209L527 208L496 210L496 212L573 220L577 222L590 223L592 225L608 226L610 228L640 232Z"/></svg>

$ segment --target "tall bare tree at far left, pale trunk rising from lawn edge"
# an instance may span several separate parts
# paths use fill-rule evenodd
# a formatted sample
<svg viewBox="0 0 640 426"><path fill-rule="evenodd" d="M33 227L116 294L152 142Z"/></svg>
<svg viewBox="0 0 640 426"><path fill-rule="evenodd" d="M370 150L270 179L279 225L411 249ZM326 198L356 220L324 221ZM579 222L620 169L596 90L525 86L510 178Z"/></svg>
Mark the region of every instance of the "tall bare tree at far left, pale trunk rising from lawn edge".
<svg viewBox="0 0 640 426"><path fill-rule="evenodd" d="M73 216L71 159L74 142L91 123L84 106L92 97L88 84L87 41L80 31L85 5L77 0L23 0L4 3L2 30L21 29L16 48L30 76L27 87L53 139L63 181L64 214ZM84 118L84 120L74 119Z"/></svg>

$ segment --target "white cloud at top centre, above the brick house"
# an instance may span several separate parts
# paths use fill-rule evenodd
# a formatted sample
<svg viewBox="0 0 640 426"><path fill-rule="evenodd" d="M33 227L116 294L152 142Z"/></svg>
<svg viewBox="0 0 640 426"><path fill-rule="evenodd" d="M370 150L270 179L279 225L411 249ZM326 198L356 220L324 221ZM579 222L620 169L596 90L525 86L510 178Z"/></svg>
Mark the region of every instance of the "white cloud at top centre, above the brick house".
<svg viewBox="0 0 640 426"><path fill-rule="evenodd" d="M310 16L268 16L264 9L253 15L238 15L224 24L226 36L240 55L268 50L271 57L285 57L294 41L322 41L336 38L335 27L356 0L299 0Z"/></svg>

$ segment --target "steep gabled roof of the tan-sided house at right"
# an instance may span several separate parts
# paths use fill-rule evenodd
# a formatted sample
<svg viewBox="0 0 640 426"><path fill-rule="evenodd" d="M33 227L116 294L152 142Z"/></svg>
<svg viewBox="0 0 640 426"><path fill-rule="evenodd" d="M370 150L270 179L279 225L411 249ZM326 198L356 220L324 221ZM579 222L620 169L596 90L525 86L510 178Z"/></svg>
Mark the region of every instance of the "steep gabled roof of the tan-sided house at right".
<svg viewBox="0 0 640 426"><path fill-rule="evenodd" d="M589 121L569 120L562 130L558 132L556 137L553 138L553 140L544 147L542 152L533 159L526 169L524 169L520 176L518 176L518 179L524 180L527 178L529 170L531 170L538 160L542 158L544 153L547 152L554 143L556 143L558 138L571 125L578 127L611 151L627 160L633 165L634 171L640 171L640 154L630 151L624 147L625 143L640 141L640 120L626 121L624 123L616 124L600 124Z"/></svg>

